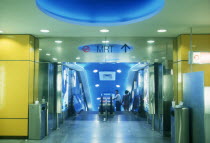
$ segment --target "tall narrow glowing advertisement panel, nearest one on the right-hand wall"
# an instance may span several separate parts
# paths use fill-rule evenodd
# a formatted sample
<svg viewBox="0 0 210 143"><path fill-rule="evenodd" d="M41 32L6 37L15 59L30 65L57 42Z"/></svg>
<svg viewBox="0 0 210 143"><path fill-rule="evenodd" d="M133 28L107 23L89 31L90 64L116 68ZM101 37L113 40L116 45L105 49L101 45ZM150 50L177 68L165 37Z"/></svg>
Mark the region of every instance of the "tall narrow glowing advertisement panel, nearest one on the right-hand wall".
<svg viewBox="0 0 210 143"><path fill-rule="evenodd" d="M144 69L144 109L149 112L149 67Z"/></svg>

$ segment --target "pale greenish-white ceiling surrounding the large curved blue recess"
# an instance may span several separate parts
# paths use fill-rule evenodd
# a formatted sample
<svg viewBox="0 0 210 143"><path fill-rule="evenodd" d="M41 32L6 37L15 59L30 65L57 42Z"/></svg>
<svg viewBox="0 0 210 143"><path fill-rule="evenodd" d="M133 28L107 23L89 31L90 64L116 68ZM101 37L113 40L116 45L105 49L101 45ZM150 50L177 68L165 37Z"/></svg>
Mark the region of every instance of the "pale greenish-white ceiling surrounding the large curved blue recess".
<svg viewBox="0 0 210 143"><path fill-rule="evenodd" d="M156 16L135 24L108 27L107 36L175 37L189 33L210 33L210 0L166 0ZM6 34L37 37L98 37L102 27L80 26L53 19L36 7L35 0L0 0L0 30ZM166 28L167 33L157 33ZM40 29L49 29L47 34Z"/></svg>

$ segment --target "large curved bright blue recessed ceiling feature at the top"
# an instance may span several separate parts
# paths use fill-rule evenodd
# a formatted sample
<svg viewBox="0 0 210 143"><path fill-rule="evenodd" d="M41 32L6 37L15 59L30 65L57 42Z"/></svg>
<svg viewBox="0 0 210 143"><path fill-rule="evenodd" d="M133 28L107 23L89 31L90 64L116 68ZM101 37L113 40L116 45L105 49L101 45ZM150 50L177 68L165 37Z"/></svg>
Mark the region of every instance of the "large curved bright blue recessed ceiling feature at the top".
<svg viewBox="0 0 210 143"><path fill-rule="evenodd" d="M148 19L164 7L165 0L36 0L47 15L69 23L115 26Z"/></svg>

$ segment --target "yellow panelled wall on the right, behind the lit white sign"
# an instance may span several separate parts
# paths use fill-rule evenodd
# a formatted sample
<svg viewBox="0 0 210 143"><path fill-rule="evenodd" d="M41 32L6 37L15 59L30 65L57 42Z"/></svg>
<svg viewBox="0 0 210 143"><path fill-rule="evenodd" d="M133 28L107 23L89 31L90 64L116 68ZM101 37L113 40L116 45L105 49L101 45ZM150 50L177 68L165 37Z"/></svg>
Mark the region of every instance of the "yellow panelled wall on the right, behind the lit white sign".
<svg viewBox="0 0 210 143"><path fill-rule="evenodd" d="M188 52L190 51L190 35L180 35L177 37L176 46L173 51L173 71L174 71L174 98L177 102L183 100L183 73L204 71L205 86L210 86L210 65L188 64ZM210 35L192 35L193 51L210 51Z"/></svg>

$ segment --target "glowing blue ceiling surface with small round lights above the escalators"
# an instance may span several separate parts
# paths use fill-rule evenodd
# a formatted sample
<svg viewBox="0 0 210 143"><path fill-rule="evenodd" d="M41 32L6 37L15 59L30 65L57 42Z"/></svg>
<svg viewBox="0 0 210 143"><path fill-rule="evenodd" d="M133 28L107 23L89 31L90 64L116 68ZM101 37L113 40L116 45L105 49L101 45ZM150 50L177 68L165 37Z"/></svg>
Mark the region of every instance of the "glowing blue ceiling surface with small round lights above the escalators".
<svg viewBox="0 0 210 143"><path fill-rule="evenodd" d="M88 85L90 87L90 98L92 104L92 110L98 111L100 101L97 100L104 93L114 94L115 90L118 89L120 95L124 94L124 91L128 88L127 77L131 67L137 63L77 63L82 65L87 73ZM99 72L94 73L93 70L98 71L112 71L116 72L121 70L121 74L116 75L116 80L100 80ZM117 87L116 85L119 85Z"/></svg>

